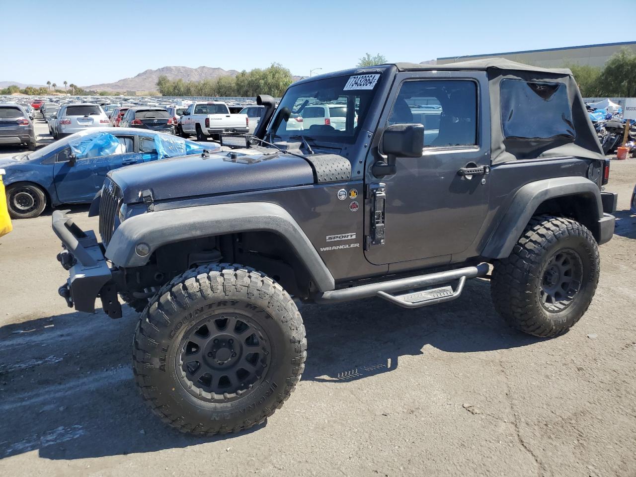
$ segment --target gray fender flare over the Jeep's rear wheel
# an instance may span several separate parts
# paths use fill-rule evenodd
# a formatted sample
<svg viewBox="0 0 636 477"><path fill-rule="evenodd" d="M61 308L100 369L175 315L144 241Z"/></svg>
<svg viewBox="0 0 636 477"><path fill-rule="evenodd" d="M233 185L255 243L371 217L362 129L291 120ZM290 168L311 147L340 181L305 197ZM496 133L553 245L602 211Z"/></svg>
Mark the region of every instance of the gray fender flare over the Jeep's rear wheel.
<svg viewBox="0 0 636 477"><path fill-rule="evenodd" d="M603 205L597 184L580 176L555 177L531 182L516 191L508 210L490 235L481 256L495 259L509 256L539 205L546 200L567 196L581 197L589 204L590 223L598 225L598 221L603 218ZM597 240L600 239L600 230L591 232Z"/></svg>

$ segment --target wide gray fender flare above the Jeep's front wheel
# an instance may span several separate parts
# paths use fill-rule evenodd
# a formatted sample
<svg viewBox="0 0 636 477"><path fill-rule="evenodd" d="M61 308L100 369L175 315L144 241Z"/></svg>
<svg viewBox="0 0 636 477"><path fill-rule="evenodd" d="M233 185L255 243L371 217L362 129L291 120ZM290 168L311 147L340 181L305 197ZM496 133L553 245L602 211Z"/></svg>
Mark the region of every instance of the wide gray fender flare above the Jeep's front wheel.
<svg viewBox="0 0 636 477"><path fill-rule="evenodd" d="M106 248L106 258L122 268L143 266L151 253L163 245L249 231L280 235L305 264L319 291L335 288L333 275L298 223L280 205L268 202L200 205L133 216L114 232ZM141 242L150 247L150 253L144 257L135 252Z"/></svg>

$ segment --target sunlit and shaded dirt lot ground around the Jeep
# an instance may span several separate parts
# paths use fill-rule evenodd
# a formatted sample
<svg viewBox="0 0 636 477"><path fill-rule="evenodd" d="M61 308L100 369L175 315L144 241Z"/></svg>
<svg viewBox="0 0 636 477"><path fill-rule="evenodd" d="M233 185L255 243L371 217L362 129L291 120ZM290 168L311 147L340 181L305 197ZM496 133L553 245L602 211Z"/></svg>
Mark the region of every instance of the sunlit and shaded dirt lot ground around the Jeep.
<svg viewBox="0 0 636 477"><path fill-rule="evenodd" d="M0 475L636 476L634 183L636 159L613 161L616 235L567 335L507 328L486 280L420 310L307 306L294 395L265 425L216 439L151 415L130 370L134 312L69 310L50 216L15 221L0 238ZM86 210L74 218L95 228Z"/></svg>

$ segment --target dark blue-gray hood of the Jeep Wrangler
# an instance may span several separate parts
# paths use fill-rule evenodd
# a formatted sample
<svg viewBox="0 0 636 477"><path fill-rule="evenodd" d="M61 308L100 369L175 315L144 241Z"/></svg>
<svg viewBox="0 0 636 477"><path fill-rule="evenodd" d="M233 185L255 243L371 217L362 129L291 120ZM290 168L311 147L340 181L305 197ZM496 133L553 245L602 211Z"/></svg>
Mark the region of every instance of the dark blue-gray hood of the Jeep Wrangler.
<svg viewBox="0 0 636 477"><path fill-rule="evenodd" d="M149 189L155 200L300 186L314 183L314 172L300 157L275 153L181 156L109 172L126 204L140 202Z"/></svg>

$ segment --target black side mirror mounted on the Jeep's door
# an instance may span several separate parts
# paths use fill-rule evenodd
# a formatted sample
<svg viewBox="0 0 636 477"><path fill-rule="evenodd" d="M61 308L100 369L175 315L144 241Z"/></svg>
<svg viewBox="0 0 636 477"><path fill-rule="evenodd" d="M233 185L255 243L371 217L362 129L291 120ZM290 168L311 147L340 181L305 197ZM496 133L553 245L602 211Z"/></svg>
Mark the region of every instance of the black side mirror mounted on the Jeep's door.
<svg viewBox="0 0 636 477"><path fill-rule="evenodd" d="M382 152L387 162L377 161L371 167L373 176L382 178L396 173L396 157L422 157L424 125L394 124L382 135Z"/></svg>

